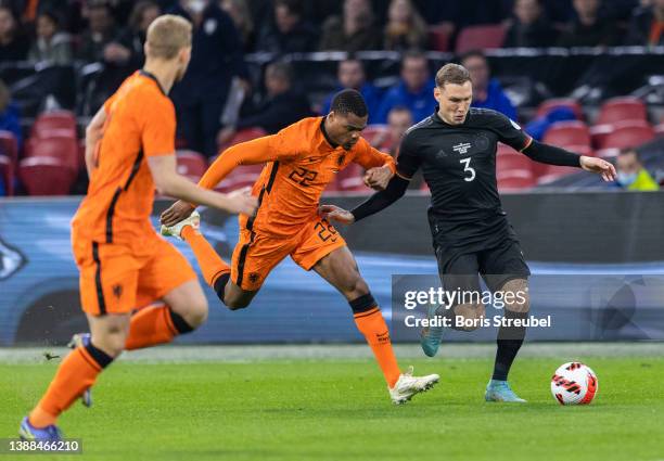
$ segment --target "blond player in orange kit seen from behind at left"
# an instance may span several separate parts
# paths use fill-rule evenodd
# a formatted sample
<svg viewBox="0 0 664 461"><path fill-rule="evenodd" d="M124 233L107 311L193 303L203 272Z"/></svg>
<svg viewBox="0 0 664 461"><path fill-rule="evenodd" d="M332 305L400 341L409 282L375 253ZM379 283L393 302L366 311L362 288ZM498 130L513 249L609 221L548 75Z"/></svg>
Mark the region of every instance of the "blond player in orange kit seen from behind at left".
<svg viewBox="0 0 664 461"><path fill-rule="evenodd" d="M55 421L124 349L170 342L207 318L196 274L150 222L162 194L253 215L248 193L225 195L176 172L176 116L167 97L191 56L191 24L165 15L148 30L146 61L97 113L86 132L90 187L72 222L80 298L91 334L79 335L43 398L24 418L25 439L60 439ZM163 304L139 310L155 300Z"/></svg>

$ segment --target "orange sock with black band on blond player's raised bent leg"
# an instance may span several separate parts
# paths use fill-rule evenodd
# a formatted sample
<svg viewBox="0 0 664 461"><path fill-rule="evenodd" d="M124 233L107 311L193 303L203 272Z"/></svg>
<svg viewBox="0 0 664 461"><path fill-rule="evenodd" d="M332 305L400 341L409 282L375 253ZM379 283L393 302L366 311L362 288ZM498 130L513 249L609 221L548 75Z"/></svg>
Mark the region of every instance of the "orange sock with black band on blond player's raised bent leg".
<svg viewBox="0 0 664 461"><path fill-rule="evenodd" d="M181 316L165 304L144 307L131 316L125 349L142 349L170 343L178 334L192 330Z"/></svg>

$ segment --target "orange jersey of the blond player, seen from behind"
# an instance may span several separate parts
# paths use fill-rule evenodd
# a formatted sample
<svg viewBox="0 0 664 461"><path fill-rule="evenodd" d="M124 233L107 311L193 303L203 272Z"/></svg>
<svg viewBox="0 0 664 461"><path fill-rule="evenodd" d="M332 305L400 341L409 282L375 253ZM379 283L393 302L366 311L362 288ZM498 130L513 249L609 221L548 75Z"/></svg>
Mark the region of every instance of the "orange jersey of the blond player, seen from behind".
<svg viewBox="0 0 664 461"><path fill-rule="evenodd" d="M155 235L150 222L155 185L145 158L175 153L175 107L156 78L139 71L104 110L97 167L72 227L75 238L137 244Z"/></svg>

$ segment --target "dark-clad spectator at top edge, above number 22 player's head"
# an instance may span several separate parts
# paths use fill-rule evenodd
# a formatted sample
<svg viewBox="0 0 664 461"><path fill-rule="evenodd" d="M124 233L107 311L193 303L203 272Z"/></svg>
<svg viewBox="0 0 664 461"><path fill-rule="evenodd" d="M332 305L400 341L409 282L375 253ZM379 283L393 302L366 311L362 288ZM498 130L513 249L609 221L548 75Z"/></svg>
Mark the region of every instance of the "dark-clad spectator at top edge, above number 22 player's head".
<svg viewBox="0 0 664 461"><path fill-rule="evenodd" d="M329 17L322 26L321 50L380 50L382 36L370 0L345 0L342 16Z"/></svg>

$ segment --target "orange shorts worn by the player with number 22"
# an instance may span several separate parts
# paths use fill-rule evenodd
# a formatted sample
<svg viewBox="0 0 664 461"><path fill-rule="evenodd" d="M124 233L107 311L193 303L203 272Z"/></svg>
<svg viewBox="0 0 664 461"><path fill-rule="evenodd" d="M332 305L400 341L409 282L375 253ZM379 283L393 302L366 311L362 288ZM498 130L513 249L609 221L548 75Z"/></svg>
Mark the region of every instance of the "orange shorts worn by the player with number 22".
<svg viewBox="0 0 664 461"><path fill-rule="evenodd" d="M316 262L342 246L346 246L344 238L323 219L311 220L289 236L240 227L231 280L242 290L257 291L274 266L286 256L291 255L304 270L310 270Z"/></svg>

